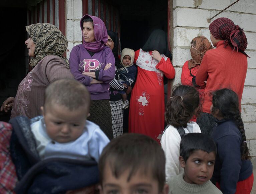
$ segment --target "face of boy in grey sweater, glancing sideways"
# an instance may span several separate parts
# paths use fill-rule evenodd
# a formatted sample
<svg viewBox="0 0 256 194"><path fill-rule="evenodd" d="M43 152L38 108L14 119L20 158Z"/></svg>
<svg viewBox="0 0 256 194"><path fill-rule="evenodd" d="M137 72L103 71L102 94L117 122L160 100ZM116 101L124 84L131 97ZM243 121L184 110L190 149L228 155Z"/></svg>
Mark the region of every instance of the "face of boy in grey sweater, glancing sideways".
<svg viewBox="0 0 256 194"><path fill-rule="evenodd" d="M210 180L213 175L215 153L196 150L187 162L180 156L180 164L184 168L184 180L190 184L203 184Z"/></svg>

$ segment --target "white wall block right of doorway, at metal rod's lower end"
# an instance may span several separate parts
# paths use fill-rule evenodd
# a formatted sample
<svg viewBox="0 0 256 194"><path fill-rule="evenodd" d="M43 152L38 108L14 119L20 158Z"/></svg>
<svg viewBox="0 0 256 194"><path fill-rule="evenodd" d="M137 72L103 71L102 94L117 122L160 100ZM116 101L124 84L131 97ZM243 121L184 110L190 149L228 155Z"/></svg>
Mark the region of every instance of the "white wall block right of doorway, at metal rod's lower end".
<svg viewBox="0 0 256 194"><path fill-rule="evenodd" d="M210 11L192 8L177 8L174 10L174 27L189 26L208 28L207 18L210 18Z"/></svg>

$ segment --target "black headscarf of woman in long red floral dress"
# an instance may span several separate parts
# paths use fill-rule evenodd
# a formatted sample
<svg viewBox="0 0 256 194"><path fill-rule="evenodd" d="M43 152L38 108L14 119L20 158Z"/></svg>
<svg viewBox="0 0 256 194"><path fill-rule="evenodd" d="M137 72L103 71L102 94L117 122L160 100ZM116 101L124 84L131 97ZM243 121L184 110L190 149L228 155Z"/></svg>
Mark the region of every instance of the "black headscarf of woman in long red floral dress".
<svg viewBox="0 0 256 194"><path fill-rule="evenodd" d="M154 30L142 49L144 51L157 50L160 54L164 54L171 60L173 58L168 48L167 35L163 30Z"/></svg>

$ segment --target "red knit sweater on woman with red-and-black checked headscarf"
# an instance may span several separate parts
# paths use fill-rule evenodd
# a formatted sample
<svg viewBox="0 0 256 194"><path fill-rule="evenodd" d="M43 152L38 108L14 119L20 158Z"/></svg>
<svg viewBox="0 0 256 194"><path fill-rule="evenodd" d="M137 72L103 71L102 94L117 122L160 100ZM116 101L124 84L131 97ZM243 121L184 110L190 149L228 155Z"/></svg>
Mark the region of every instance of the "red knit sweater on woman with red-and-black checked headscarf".
<svg viewBox="0 0 256 194"><path fill-rule="evenodd" d="M246 71L247 57L241 52L233 51L231 47L224 48L224 41L219 41L216 49L208 50L196 75L197 85L204 86L204 81L207 81L202 111L211 113L211 92L223 88L235 91L240 104Z"/></svg>

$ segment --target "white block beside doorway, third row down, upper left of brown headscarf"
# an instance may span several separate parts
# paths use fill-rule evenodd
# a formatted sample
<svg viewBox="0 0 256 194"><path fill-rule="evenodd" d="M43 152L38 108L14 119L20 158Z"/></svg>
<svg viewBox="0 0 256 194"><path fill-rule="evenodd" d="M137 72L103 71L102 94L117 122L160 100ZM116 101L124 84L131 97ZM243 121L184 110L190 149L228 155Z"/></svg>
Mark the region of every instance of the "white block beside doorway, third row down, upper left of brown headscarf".
<svg viewBox="0 0 256 194"><path fill-rule="evenodd" d="M199 29L186 29L186 28L175 28L174 29L174 46L188 46L193 38L200 34Z"/></svg>

